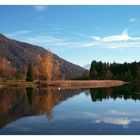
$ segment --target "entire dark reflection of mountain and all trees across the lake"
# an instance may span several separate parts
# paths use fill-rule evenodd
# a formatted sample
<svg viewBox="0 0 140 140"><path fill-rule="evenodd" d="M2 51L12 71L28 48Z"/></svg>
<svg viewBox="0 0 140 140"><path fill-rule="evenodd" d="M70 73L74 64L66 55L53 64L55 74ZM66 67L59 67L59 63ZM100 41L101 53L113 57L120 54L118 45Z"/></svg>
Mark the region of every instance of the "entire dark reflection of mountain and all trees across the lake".
<svg viewBox="0 0 140 140"><path fill-rule="evenodd" d="M25 116L46 114L50 120L53 108L64 100L81 93L90 94L93 102L108 99L140 100L140 86L127 85L90 90L58 90L50 88L3 88L0 89L0 128Z"/></svg>

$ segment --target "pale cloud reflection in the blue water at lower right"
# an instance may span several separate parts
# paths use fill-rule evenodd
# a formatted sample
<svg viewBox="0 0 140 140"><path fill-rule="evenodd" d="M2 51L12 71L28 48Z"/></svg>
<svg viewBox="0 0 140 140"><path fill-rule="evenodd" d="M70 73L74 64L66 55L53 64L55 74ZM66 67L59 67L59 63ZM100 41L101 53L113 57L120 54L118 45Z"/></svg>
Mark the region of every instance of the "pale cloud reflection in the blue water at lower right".
<svg viewBox="0 0 140 140"><path fill-rule="evenodd" d="M104 113L100 112L85 112L83 113L86 117L90 117L94 120L94 123L107 123L113 125L122 125L125 128L132 122L140 121L140 113L132 114L132 112L121 112L118 110L110 110L109 112Z"/></svg>

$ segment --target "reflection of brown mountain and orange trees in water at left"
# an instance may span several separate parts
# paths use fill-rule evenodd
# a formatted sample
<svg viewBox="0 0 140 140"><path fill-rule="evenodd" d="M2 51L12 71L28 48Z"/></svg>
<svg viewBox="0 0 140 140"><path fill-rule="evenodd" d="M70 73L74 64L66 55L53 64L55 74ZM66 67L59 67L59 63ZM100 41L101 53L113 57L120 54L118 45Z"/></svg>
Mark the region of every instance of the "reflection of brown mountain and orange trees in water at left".
<svg viewBox="0 0 140 140"><path fill-rule="evenodd" d="M46 113L50 119L55 105L81 92L32 88L0 89L0 128L24 116Z"/></svg>

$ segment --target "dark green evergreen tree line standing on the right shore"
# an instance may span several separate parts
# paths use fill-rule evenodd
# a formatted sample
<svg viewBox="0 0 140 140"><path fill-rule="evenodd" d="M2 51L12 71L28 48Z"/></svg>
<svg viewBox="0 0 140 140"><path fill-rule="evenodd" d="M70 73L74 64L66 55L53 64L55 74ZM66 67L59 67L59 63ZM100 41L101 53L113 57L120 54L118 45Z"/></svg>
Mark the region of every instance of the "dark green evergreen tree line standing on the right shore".
<svg viewBox="0 0 140 140"><path fill-rule="evenodd" d="M103 63L92 61L89 76L91 80L140 80L140 62Z"/></svg>

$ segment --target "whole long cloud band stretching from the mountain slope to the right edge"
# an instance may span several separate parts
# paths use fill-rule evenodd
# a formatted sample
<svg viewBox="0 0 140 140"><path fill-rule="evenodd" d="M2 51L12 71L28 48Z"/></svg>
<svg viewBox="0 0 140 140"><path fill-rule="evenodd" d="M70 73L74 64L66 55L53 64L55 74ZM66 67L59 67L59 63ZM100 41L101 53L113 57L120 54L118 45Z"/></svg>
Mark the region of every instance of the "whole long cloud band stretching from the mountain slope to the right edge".
<svg viewBox="0 0 140 140"><path fill-rule="evenodd" d="M58 31L57 31L58 32ZM28 43L33 43L36 45L41 46L51 46L51 47L57 47L62 49L74 49L74 48L86 48L86 47L105 47L109 49L117 49L117 48L128 48L128 47L140 47L140 37L132 37L128 33L128 29L124 29L121 34L116 35L110 35L110 36L89 36L85 34L77 34L77 36L82 35L82 37L85 37L87 39L84 41L73 41L72 37L63 37L63 36L57 36L55 34L50 34L47 32L40 33L37 36L33 35L31 31L28 30L21 30L16 31L13 33L7 34L9 37L19 37L22 35L28 35L30 36L25 37L24 39ZM24 40L22 40L24 41Z"/></svg>

